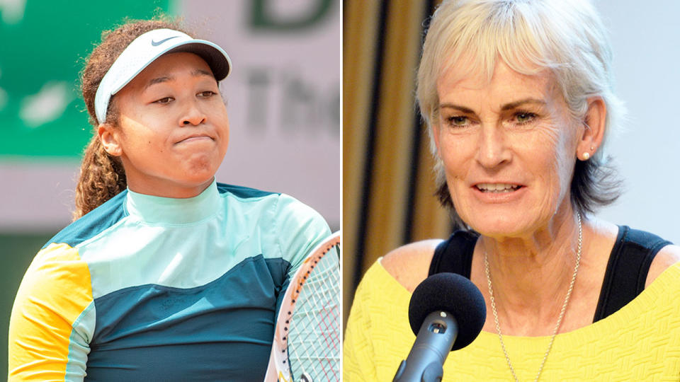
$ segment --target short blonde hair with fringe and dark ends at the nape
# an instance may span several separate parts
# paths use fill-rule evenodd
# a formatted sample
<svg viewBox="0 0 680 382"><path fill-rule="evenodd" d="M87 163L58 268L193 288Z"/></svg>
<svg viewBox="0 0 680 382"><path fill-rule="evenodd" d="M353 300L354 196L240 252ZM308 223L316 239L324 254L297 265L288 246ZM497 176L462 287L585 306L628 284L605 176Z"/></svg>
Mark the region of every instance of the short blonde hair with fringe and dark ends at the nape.
<svg viewBox="0 0 680 382"><path fill-rule="evenodd" d="M608 35L591 1L444 0L426 32L416 91L428 125L442 204L453 209L431 129L439 117L437 80L445 72L460 77L470 74L455 73L459 68L474 68L490 80L499 58L521 74L552 71L574 118L583 119L587 98L604 100L605 138L593 158L577 161L572 203L579 212L593 212L613 202L620 194L619 182L612 180L613 169L606 166L604 146L625 109L613 93Z"/></svg>

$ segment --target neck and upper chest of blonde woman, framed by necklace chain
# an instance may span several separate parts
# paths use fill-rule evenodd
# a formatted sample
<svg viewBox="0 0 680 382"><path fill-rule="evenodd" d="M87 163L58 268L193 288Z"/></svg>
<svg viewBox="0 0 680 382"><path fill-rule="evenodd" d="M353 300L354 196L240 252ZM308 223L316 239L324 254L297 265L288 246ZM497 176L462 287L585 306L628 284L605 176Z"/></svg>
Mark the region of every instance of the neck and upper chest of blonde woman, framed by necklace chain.
<svg viewBox="0 0 680 382"><path fill-rule="evenodd" d="M586 226L584 222L582 227ZM481 276L487 278L486 256L499 321L506 332L536 333L546 328L552 332L574 273L578 238L578 220L567 214L530 235L482 236L477 241L477 270L481 265ZM488 299L488 289L484 294Z"/></svg>

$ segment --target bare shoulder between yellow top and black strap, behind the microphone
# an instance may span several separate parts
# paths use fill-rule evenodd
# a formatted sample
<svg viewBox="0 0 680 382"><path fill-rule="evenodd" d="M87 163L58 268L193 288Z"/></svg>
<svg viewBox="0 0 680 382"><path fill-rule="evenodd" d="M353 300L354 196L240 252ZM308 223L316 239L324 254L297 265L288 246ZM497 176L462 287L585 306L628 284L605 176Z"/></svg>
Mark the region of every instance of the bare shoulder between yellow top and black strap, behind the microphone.
<svg viewBox="0 0 680 382"><path fill-rule="evenodd" d="M402 245L382 257L380 264L399 284L412 292L426 279L434 248L441 242L440 239L433 239Z"/></svg>

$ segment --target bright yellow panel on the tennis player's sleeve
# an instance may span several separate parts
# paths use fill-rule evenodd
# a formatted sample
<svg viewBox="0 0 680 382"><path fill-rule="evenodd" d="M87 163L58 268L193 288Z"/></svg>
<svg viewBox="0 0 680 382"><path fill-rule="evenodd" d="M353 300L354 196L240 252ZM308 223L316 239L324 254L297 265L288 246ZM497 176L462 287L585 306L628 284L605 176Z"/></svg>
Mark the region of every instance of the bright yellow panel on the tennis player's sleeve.
<svg viewBox="0 0 680 382"><path fill-rule="evenodd" d="M78 250L50 244L41 250L23 277L9 324L9 381L64 381L69 345L75 339L84 365L91 338L73 325L93 303L89 268ZM91 328L94 330L94 328ZM69 371L69 374L72 372ZM76 374L83 374L84 367ZM80 377L80 379L82 376Z"/></svg>

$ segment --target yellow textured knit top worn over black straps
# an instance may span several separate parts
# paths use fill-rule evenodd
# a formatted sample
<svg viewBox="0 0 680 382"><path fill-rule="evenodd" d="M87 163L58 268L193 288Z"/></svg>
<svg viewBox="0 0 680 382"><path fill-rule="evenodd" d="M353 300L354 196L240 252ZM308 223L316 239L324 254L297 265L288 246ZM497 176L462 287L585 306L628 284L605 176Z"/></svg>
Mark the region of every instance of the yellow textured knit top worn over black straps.
<svg viewBox="0 0 680 382"><path fill-rule="evenodd" d="M392 381L415 335L411 294L376 262L354 296L344 342L344 381ZM533 381L550 336L504 335L520 381ZM443 381L511 381L497 333L450 352ZM540 381L680 381L680 264L611 316L555 337Z"/></svg>

